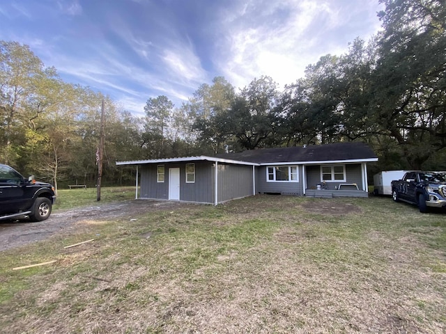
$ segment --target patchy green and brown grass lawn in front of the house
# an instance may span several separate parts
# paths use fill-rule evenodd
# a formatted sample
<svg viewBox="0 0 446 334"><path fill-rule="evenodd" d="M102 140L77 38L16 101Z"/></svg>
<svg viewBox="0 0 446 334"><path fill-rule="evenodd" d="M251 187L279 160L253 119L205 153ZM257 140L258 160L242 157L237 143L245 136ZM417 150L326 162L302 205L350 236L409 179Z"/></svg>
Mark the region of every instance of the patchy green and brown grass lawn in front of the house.
<svg viewBox="0 0 446 334"><path fill-rule="evenodd" d="M167 207L0 258L3 333L446 332L446 214L390 198Z"/></svg>

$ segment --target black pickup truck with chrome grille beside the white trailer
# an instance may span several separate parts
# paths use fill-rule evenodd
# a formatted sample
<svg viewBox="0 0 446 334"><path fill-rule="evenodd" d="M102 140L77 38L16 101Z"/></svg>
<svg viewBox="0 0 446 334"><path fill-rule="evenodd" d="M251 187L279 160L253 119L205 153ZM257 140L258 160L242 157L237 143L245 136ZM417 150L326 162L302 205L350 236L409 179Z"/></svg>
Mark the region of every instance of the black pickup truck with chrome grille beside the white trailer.
<svg viewBox="0 0 446 334"><path fill-rule="evenodd" d="M415 204L420 212L429 207L446 208L446 173L407 172L402 180L392 181L392 198Z"/></svg>

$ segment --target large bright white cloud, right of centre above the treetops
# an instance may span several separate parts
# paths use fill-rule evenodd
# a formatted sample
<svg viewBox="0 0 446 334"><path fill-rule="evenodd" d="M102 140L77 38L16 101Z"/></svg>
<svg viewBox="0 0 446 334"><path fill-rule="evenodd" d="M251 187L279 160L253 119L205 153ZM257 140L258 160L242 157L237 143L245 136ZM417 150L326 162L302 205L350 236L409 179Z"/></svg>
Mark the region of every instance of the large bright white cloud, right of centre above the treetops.
<svg viewBox="0 0 446 334"><path fill-rule="evenodd" d="M339 1L282 0L251 1L232 13L223 10L220 29L231 37L219 48L218 53L223 56L217 59L217 66L238 87L261 75L269 75L282 85L291 84L304 76L307 65L316 63L324 54L342 54L348 49L348 42L356 37L352 29L357 29L361 22L346 25L352 24L354 15L363 19L359 11L368 10L374 15L362 24L378 22L372 8L376 8L376 3L363 8L362 1L346 1L339 9ZM378 26L375 23L366 30L376 32ZM342 31L343 27L351 30ZM337 30L345 35L330 40L330 34ZM223 49L229 51L221 52Z"/></svg>

